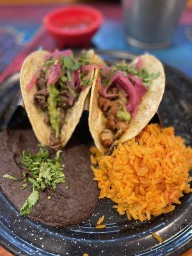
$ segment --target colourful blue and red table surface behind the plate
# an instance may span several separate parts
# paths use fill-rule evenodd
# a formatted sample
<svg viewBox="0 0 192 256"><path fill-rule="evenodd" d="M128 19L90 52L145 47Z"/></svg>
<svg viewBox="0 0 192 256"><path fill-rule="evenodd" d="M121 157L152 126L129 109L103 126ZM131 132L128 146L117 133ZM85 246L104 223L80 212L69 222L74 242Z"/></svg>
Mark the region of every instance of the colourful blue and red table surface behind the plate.
<svg viewBox="0 0 192 256"><path fill-rule="evenodd" d="M29 43L31 51L35 51L41 45L48 50L56 47L51 36L45 35L45 30L38 40L34 39L36 32L42 26L42 18L45 13L55 7L12 6L0 8L0 81L20 69L22 61L30 52ZM100 4L97 7L102 10L106 19L102 28L92 38L95 47L127 50L138 54L145 52L127 44L120 4ZM186 33L189 29L192 31L192 10L186 10L183 17L184 19L181 20L182 22L173 36L172 45L166 49L148 52L192 77L192 42ZM35 43L33 44L33 42ZM27 45L28 51L24 51ZM50 45L51 47L49 47ZM15 59L17 60L15 61ZM16 66L17 68L15 68Z"/></svg>

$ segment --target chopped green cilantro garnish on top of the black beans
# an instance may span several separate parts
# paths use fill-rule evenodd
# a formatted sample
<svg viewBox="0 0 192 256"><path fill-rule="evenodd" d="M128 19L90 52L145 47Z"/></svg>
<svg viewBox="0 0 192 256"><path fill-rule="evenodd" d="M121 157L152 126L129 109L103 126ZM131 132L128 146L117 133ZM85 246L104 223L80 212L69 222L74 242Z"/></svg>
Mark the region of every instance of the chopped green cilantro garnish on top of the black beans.
<svg viewBox="0 0 192 256"><path fill-rule="evenodd" d="M23 173L20 180L31 184L33 191L20 208L20 215L28 215L32 211L38 202L40 190L56 189L57 184L65 182L64 164L60 163L61 150L56 152L56 157L51 158L49 151L43 145L39 145L39 147L40 150L35 155L31 155L28 150L22 152L22 166L26 167L28 171ZM9 174L5 174L3 177L19 180ZM20 189L25 189L27 186L28 184L23 184ZM48 199L51 199L51 196Z"/></svg>

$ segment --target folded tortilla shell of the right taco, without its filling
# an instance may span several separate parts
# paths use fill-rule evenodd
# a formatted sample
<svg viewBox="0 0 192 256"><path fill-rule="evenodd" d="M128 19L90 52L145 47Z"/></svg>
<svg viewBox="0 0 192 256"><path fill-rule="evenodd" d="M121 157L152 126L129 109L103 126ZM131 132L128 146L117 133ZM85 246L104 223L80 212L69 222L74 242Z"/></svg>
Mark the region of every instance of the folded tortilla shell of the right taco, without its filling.
<svg viewBox="0 0 192 256"><path fill-rule="evenodd" d="M164 93L165 76L161 61L157 60L157 58L149 54L142 55L138 58L141 58L143 63L142 68L145 68L149 73L159 72L160 75L157 77L157 79L152 81L148 91L145 93L145 95L143 95L138 111L136 115L132 117L127 131L125 131L125 133L122 134L121 138L118 140L119 143L124 143L125 141L131 140L140 133L140 131L148 124L148 122L157 112ZM138 58L132 61L130 65L137 63ZM97 58L95 57L95 61L103 63L99 56L97 56ZM104 114L98 106L99 85L97 84L97 78L99 77L99 73L100 70L98 68L95 71L96 79L92 86L90 98L89 127L95 142L95 146L103 154L108 149L104 148L100 143L100 133L103 131L103 129L105 129L106 124Z"/></svg>

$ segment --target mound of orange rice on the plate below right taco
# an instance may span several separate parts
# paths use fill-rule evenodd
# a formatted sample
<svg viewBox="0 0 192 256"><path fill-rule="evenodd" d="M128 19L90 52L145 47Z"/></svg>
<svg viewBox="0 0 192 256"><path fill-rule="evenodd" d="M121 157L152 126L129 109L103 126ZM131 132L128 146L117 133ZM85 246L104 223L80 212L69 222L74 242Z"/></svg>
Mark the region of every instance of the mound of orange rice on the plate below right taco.
<svg viewBox="0 0 192 256"><path fill-rule="evenodd" d="M150 220L152 215L173 211L183 193L192 191L192 149L174 135L172 127L147 125L111 156L102 156L95 147L90 150L99 198L113 200L113 207L129 220Z"/></svg>

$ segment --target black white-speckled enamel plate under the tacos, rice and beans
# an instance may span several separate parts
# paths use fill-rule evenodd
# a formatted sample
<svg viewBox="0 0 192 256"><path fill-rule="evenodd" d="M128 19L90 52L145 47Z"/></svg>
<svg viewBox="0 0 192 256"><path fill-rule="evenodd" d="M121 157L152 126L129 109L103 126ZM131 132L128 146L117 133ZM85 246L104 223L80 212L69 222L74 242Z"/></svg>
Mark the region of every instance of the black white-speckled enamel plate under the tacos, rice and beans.
<svg viewBox="0 0 192 256"><path fill-rule="evenodd" d="M173 125L177 134L190 144L192 131L192 83L177 70L165 66L166 92L159 108L164 126ZM1 99L0 99L1 100ZM88 131L88 113L84 112L78 129ZM28 125L26 114L17 109L11 127ZM79 127L80 126L80 127ZM87 129L87 130L86 130ZM81 134L81 139L90 143L90 134ZM113 203L99 200L92 216L80 225L68 228L50 228L29 218L21 218L19 212L0 192L0 243L15 255L180 255L191 247L192 195L185 195L175 211L151 221L128 221L119 216ZM96 230L95 223L105 215L107 227ZM158 243L152 232L163 238Z"/></svg>

